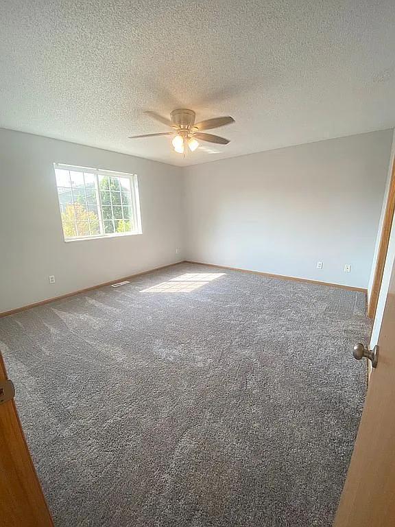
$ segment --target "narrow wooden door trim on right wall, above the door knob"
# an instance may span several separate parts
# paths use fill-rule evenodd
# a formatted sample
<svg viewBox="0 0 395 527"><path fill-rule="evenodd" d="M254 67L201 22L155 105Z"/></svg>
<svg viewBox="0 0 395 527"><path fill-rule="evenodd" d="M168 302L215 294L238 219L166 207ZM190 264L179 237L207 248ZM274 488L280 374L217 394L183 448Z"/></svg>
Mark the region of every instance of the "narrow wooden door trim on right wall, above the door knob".
<svg viewBox="0 0 395 527"><path fill-rule="evenodd" d="M392 229L392 221L394 219L394 211L395 211L395 157L392 162L392 174L391 174L391 180L390 180L390 187L388 189L387 204L385 205L385 215L384 215L384 220L383 220L383 228L381 229L379 252L377 253L377 261L376 261L376 268L374 270L372 290L368 298L368 317L369 318L374 318L374 316L376 316L376 309L377 309L377 303L379 302L381 281L383 280L385 259L387 258L388 244L390 243L390 235L391 235L391 229Z"/></svg>

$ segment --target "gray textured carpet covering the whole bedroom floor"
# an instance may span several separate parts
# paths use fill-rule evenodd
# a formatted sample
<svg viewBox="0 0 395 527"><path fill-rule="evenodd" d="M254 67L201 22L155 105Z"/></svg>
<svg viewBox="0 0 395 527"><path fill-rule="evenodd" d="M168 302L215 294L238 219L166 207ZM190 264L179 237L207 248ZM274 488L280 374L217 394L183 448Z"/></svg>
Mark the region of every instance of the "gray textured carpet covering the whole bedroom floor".
<svg viewBox="0 0 395 527"><path fill-rule="evenodd" d="M196 272L226 274L167 283ZM365 302L180 264L0 319L56 526L331 526Z"/></svg>

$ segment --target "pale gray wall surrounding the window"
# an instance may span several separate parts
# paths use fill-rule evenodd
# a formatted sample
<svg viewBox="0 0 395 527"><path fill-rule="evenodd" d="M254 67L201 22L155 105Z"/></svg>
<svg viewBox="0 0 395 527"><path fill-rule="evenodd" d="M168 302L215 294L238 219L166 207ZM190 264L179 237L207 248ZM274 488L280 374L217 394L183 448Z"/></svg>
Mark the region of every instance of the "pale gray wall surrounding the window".
<svg viewBox="0 0 395 527"><path fill-rule="evenodd" d="M143 234L64 242L54 161L138 174ZM0 312L182 259L180 170L0 130Z"/></svg>

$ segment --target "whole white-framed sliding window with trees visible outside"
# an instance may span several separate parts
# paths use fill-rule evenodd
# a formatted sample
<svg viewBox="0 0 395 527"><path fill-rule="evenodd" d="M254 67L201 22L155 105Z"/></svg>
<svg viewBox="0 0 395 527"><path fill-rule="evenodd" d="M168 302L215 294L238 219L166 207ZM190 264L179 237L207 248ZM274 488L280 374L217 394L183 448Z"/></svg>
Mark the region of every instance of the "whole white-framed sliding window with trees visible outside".
<svg viewBox="0 0 395 527"><path fill-rule="evenodd" d="M141 233L135 174L53 166L66 241Z"/></svg>

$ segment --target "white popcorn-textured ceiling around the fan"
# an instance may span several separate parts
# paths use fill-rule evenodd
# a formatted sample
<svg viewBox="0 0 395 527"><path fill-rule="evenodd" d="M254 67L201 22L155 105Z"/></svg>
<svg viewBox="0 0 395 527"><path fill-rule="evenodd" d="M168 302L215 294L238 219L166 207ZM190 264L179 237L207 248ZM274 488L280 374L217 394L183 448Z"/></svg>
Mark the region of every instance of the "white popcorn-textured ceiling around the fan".
<svg viewBox="0 0 395 527"><path fill-rule="evenodd" d="M392 128L394 27L394 0L2 0L0 127L175 165ZM127 139L178 107L230 144Z"/></svg>

